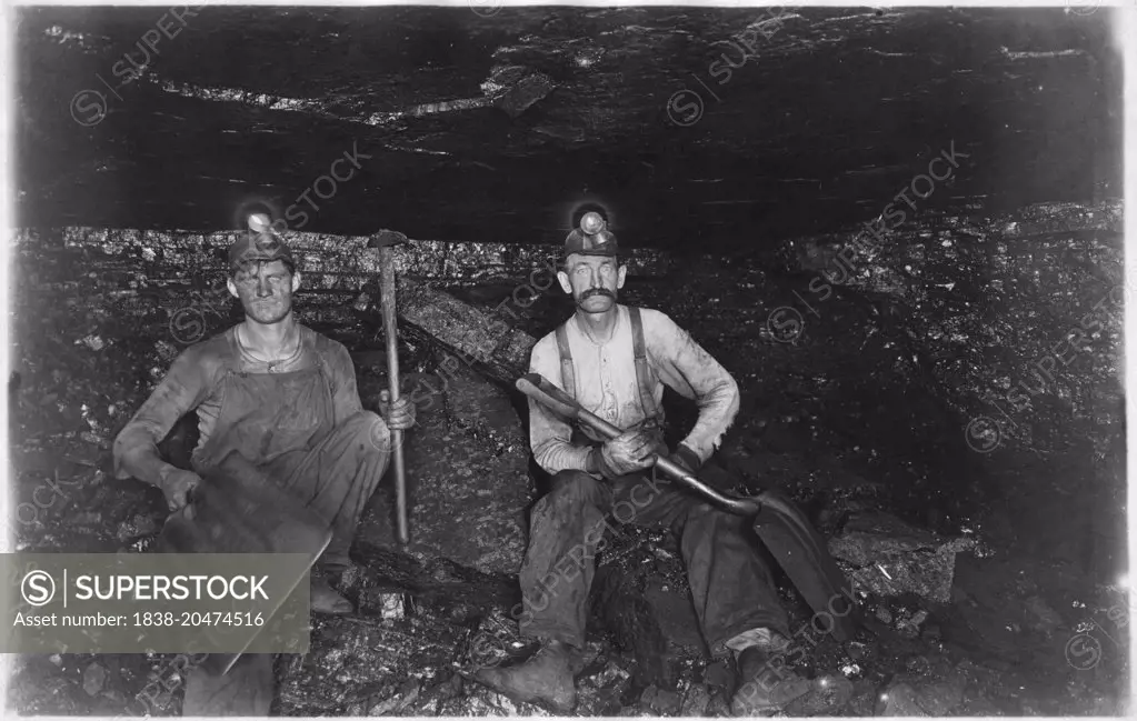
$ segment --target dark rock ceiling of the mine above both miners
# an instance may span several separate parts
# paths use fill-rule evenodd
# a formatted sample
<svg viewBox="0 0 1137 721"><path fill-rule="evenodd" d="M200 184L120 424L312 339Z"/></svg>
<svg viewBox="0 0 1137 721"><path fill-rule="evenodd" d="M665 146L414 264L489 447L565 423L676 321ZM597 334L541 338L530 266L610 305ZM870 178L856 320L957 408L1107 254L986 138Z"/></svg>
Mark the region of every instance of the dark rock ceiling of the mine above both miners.
<svg viewBox="0 0 1137 721"><path fill-rule="evenodd" d="M877 217L953 143L921 210L1121 196L1105 8L489 1L23 8L17 224L558 242L599 201L713 250Z"/></svg>

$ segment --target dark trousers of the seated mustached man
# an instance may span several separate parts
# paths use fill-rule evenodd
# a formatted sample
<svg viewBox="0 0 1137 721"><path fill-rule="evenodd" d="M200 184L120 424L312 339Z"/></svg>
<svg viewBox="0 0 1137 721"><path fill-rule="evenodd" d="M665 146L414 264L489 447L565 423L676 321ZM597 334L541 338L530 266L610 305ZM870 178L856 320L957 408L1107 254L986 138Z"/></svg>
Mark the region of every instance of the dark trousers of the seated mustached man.
<svg viewBox="0 0 1137 721"><path fill-rule="evenodd" d="M670 528L679 539L695 611L712 653L738 633L770 628L789 636L770 570L749 519L720 511L665 480L633 474L613 482L562 471L533 508L521 567L525 636L584 645L595 554L621 524Z"/></svg>

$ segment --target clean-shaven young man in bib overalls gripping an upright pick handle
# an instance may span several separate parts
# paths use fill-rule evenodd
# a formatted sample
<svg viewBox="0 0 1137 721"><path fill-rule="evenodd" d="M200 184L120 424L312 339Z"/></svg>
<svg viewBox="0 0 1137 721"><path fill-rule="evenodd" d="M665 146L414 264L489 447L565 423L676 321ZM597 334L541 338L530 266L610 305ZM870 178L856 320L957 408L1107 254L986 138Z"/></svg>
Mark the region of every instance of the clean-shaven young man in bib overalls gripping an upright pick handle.
<svg viewBox="0 0 1137 721"><path fill-rule="evenodd" d="M414 424L414 406L406 398L388 404L384 391L384 417L363 409L347 349L293 315L300 273L282 238L268 230L242 234L229 250L229 291L240 299L244 322L177 357L115 439L116 475L157 486L171 511L180 511L202 475L238 454L327 524L332 540L313 574L312 606L349 613L351 604L326 579L348 567L356 525L388 466L384 441L390 430ZM166 463L157 445L191 411L200 440L188 471ZM264 676L271 674L268 660L252 655L243 663ZM199 713L267 712L248 698L234 699L241 708L202 708L202 699L191 699L210 694L217 690L194 691L191 679L186 711L193 701Z"/></svg>

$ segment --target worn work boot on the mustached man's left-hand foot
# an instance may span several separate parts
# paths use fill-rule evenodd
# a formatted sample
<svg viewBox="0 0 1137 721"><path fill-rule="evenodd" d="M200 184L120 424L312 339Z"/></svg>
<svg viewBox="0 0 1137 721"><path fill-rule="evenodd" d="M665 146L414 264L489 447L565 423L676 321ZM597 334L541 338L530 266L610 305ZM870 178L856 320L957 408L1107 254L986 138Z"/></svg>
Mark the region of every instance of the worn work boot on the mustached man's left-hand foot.
<svg viewBox="0 0 1137 721"><path fill-rule="evenodd" d="M548 641L529 661L508 669L480 669L474 680L514 701L568 713L576 705L572 655L565 644Z"/></svg>

